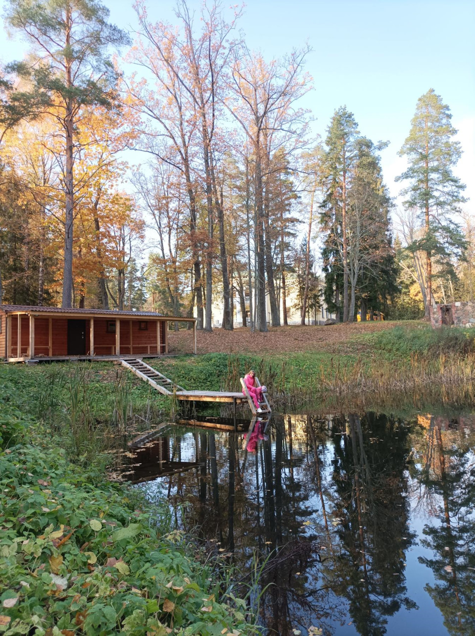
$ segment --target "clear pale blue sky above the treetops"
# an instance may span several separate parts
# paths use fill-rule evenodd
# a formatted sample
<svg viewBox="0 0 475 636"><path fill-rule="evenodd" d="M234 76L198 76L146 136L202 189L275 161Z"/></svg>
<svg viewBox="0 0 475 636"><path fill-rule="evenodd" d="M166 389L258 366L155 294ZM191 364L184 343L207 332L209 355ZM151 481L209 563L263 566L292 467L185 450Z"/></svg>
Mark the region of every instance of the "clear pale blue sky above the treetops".
<svg viewBox="0 0 475 636"><path fill-rule="evenodd" d="M3 3L4 4L4 3ZM130 0L105 0L110 21L137 25ZM149 17L175 22L173 5L149 2ZM189 0L199 11L201 2ZM224 8L229 4L225 1ZM467 184L475 211L475 2L473 0L249 0L239 27L251 49L279 57L306 41L313 51L307 71L315 89L302 106L312 109L314 131L324 136L342 104L354 113L362 134L391 142L384 151L385 181L405 163L397 153L408 133L417 99L429 88L443 97L460 130L464 157L457 174ZM0 47L3 62L21 57L18 39Z"/></svg>

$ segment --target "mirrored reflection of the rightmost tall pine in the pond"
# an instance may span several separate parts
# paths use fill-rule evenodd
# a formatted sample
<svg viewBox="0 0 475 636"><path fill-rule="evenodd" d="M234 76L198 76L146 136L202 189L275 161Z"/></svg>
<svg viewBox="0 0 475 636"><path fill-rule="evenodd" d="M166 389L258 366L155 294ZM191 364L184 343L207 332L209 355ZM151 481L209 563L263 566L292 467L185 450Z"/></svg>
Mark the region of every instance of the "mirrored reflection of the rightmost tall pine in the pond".
<svg viewBox="0 0 475 636"><path fill-rule="evenodd" d="M438 523L426 524L422 544L432 551L420 562L434 572L425 589L444 616L450 634L475 635L475 443L472 418L420 418L425 436L415 440L422 462L413 475ZM425 419L425 422L424 422Z"/></svg>

